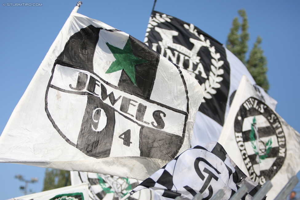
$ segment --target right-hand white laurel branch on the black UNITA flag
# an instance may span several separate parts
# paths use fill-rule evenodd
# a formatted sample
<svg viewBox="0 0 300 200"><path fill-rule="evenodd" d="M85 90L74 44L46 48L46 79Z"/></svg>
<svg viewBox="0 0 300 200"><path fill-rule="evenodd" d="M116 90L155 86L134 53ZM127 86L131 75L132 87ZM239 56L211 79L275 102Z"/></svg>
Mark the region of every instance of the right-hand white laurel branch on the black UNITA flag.
<svg viewBox="0 0 300 200"><path fill-rule="evenodd" d="M211 57L212 57L211 71L209 72L209 77L205 81L205 83L201 84L201 87L204 91L204 98L211 99L212 98L211 95L217 93L217 91L214 88L221 87L219 82L223 80L223 77L220 77L218 75L224 74L224 70L219 69L224 64L224 61L219 61L219 58L221 57L220 53L215 53L215 46L211 47L210 41L208 39L205 41L205 38L202 34L198 35L197 29L195 29L195 26L193 24L190 25L184 24L184 28L188 29L201 41L205 42L208 50L211 52ZM203 99L202 102L205 102L205 100Z"/></svg>

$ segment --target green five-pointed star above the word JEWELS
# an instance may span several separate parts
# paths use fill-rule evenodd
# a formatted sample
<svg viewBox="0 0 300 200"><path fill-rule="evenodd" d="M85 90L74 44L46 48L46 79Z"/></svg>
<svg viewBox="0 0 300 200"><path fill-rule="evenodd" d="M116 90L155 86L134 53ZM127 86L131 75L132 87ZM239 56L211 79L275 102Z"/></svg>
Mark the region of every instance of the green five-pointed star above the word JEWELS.
<svg viewBox="0 0 300 200"><path fill-rule="evenodd" d="M129 39L127 40L123 49L119 49L118 47L110 45L108 42L106 42L106 45L113 53L113 56L116 58L116 60L113 61L113 63L109 66L109 69L105 73L113 73L124 69L125 73L129 76L132 83L136 85L135 65L139 65L148 61L133 55Z"/></svg>

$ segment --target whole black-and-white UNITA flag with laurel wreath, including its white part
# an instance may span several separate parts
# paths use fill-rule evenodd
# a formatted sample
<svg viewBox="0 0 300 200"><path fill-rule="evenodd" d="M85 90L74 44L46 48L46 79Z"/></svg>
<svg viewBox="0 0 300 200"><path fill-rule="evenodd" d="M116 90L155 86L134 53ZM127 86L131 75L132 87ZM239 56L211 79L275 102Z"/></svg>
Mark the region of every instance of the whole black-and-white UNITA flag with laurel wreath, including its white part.
<svg viewBox="0 0 300 200"><path fill-rule="evenodd" d="M254 79L243 63L219 41L193 24L153 11L144 42L162 56L186 69L204 90L197 112L192 146L217 141L231 100L245 74ZM256 85L264 101L275 109L276 100Z"/></svg>

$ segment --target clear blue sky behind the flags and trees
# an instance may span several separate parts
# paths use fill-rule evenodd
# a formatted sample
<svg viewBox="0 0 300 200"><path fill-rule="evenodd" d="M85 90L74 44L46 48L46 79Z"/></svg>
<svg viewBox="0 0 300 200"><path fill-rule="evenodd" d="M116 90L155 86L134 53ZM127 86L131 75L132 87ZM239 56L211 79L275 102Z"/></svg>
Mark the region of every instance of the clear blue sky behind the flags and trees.
<svg viewBox="0 0 300 200"><path fill-rule="evenodd" d="M37 1L42 6L3 6L0 4L0 133L26 90L76 1ZM34 3L26 1L27 3ZM78 13L100 20L143 41L154 0L83 1ZM268 60L269 94L278 101L276 112L300 131L300 1L202 1L157 0L155 10L192 23L226 42L237 10L246 9L252 48L258 35ZM299 152L296 152L299 154ZM300 156L299 156L300 158ZM30 184L42 190L45 168L0 163L0 200L21 196L20 181L14 178L38 177ZM300 185L297 186L298 195Z"/></svg>

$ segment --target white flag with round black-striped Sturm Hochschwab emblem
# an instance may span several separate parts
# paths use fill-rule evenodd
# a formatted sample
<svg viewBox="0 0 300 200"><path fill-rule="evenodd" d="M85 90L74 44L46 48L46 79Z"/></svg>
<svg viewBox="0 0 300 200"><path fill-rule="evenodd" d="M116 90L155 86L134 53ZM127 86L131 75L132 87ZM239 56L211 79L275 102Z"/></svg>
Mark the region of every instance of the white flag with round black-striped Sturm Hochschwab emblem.
<svg viewBox="0 0 300 200"><path fill-rule="evenodd" d="M232 160L274 199L300 170L300 135L263 102L244 76L219 138Z"/></svg>

